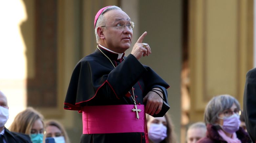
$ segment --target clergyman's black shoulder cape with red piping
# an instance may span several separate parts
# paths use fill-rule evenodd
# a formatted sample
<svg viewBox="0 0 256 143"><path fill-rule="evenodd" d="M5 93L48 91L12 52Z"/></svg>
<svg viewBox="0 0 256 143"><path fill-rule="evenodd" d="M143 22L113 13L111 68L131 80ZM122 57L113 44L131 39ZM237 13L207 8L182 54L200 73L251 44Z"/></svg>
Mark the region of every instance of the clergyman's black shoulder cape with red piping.
<svg viewBox="0 0 256 143"><path fill-rule="evenodd" d="M90 54L75 66L66 94L64 109L80 111L80 104L93 99L97 95L97 91L105 84L114 91L114 96L119 99L125 96L141 77L144 77L144 84L147 87L144 91L148 92L154 85L166 89L169 87L157 73L148 66L142 65L132 54L127 56L115 69L106 57L97 53Z"/></svg>

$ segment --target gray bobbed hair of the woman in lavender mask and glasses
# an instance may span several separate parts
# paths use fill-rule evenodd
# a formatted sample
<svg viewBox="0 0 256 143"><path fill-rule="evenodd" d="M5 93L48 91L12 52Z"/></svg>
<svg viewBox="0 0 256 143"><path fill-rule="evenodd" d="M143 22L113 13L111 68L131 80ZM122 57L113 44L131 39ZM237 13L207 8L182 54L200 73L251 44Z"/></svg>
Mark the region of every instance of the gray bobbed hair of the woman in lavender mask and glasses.
<svg viewBox="0 0 256 143"><path fill-rule="evenodd" d="M222 113L224 110L231 108L234 103L240 110L239 102L234 97L228 94L213 97L206 105L204 110L205 124L216 125L219 114Z"/></svg>

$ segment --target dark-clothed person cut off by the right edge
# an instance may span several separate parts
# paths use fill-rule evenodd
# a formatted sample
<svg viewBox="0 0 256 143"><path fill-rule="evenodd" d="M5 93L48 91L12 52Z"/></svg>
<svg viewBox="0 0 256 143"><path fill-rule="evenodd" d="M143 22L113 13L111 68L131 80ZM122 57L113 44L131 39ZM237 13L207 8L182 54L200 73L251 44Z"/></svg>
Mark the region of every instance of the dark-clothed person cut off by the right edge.
<svg viewBox="0 0 256 143"><path fill-rule="evenodd" d="M256 141L256 68L246 74L244 92L244 116L247 132Z"/></svg>

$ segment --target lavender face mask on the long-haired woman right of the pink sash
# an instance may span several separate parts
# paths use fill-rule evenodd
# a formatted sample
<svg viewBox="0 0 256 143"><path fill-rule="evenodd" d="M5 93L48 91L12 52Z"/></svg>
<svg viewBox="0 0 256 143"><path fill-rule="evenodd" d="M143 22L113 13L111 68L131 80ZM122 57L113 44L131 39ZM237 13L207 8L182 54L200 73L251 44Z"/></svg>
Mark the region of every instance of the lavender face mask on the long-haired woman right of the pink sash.
<svg viewBox="0 0 256 143"><path fill-rule="evenodd" d="M167 137L167 127L163 124L152 123L149 127L148 138L154 143L160 143Z"/></svg>

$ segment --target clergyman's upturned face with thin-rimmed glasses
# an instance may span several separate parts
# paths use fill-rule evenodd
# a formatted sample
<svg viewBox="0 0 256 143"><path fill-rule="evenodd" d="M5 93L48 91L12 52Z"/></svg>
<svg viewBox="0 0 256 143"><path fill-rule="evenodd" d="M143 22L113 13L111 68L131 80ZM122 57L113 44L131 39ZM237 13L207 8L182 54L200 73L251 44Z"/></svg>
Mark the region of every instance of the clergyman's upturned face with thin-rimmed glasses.
<svg viewBox="0 0 256 143"><path fill-rule="evenodd" d="M125 52L131 46L133 31L127 26L122 30L117 29L115 26L119 23L130 24L130 17L122 10L114 9L104 13L104 18L106 19L107 25L107 27L102 27L104 28L104 44L114 52Z"/></svg>

